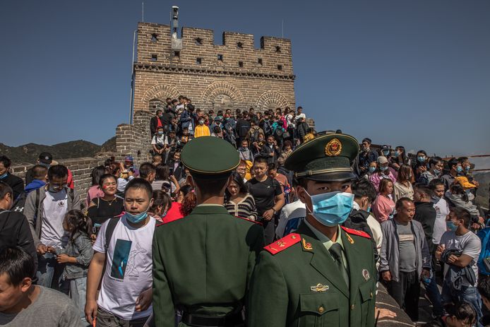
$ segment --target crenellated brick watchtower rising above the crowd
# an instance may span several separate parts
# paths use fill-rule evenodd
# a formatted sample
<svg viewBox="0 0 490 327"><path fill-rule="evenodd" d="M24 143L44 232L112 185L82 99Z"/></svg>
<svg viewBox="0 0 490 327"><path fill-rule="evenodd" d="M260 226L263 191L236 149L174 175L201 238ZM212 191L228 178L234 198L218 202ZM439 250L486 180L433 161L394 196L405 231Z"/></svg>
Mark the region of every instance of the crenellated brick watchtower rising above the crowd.
<svg viewBox="0 0 490 327"><path fill-rule="evenodd" d="M182 28L182 49L174 52L168 25L139 23L134 69L134 112L179 95L204 110L295 107L287 39L261 37L255 49L253 35L224 32L214 44L213 30Z"/></svg>

